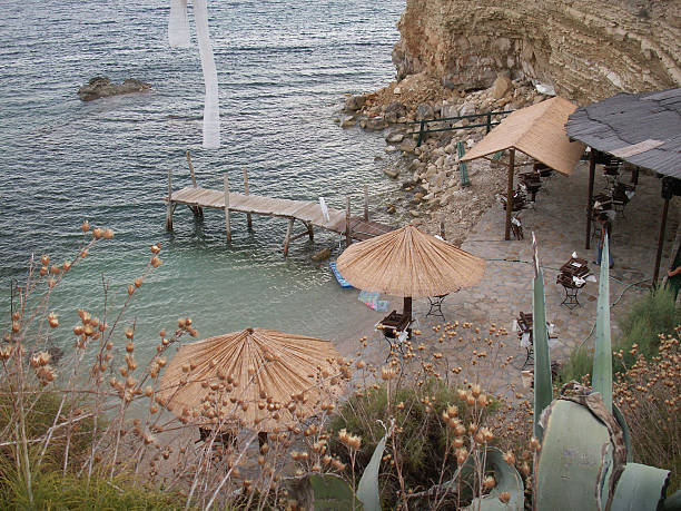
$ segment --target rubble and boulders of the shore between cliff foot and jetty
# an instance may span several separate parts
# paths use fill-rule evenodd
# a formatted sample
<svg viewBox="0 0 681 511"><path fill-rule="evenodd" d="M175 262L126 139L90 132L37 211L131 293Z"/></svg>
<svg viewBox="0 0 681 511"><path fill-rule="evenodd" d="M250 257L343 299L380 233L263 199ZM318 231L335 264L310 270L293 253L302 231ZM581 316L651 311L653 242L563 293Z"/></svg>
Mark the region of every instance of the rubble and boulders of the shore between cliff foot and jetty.
<svg viewBox="0 0 681 511"><path fill-rule="evenodd" d="M468 229L505 189L506 168L484 159L467 164L471 185L461 184L457 143L463 141L467 150L482 139L485 127L466 127L483 124L485 118L462 119L453 125L462 129L430 134L418 147L418 136L409 132L418 130L422 119L511 111L547 97L530 81L511 80L504 75L500 75L488 89L457 92L420 73L376 92L349 97L337 121L343 128L357 126L383 131L385 150L402 153L402 168L384 170L402 181L404 194L395 197L387 213L403 214L412 218L413 225L431 234L438 234L444 223L447 240L461 245ZM430 129L451 126L451 121L432 122ZM520 155L519 164L523 163Z"/></svg>

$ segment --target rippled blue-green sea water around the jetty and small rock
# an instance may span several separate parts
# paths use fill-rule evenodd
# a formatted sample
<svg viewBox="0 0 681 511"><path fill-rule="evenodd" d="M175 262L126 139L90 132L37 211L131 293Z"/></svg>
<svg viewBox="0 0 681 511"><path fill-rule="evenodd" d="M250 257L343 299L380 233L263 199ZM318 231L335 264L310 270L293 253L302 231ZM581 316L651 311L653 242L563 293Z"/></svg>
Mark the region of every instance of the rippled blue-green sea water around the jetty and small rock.
<svg viewBox="0 0 681 511"><path fill-rule="evenodd" d="M338 236L316 232L282 256L286 222L207 210L196 223L178 207L175 232L164 230L167 169L176 188L190 184L185 151L203 187L221 187L228 173L240 189L248 168L251 194L316 200L342 208L362 187L385 204L396 189L382 169L394 159L381 135L342 130L334 112L346 94L392 79L391 49L402 1L209 2L218 68L223 147L200 148L204 86L198 48L170 49L168 2L147 0L27 0L4 6L0 24L0 309L10 309L10 283L22 279L31 254L72 256L83 219L116 237L93 249L52 297L67 345L77 308L102 316L102 276L109 303L141 274L151 244L164 265L126 312L151 350L161 327L190 316L200 336L263 326L337 340L373 313L342 291L326 264L309 256ZM193 40L195 40L194 22ZM81 102L76 91L96 75L135 77L152 91ZM375 160L375 156L383 159ZM396 157L393 157L396 158ZM388 220L387 218L377 217ZM395 220L393 220L395 222ZM300 227L298 227L299 229ZM115 307L116 309L116 307Z"/></svg>

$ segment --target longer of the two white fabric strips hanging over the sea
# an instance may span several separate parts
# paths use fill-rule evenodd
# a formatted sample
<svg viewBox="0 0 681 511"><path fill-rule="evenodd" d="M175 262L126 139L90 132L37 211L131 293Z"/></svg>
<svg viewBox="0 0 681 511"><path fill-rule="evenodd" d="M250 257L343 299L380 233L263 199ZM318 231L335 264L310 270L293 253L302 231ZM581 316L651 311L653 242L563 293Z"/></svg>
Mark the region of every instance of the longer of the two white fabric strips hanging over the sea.
<svg viewBox="0 0 681 511"><path fill-rule="evenodd" d="M194 0L194 17L196 19L196 36L206 86L204 105L204 149L220 147L220 116L218 105L217 69L208 33L208 10L206 0Z"/></svg>

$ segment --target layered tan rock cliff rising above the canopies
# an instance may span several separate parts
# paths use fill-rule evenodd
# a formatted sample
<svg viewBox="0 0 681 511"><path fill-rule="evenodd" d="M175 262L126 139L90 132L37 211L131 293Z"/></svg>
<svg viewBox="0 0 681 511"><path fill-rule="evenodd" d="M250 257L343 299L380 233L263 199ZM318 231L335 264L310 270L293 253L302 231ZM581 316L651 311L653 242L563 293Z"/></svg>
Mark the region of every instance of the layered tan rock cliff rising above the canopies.
<svg viewBox="0 0 681 511"><path fill-rule="evenodd" d="M398 79L471 90L507 73L580 104L681 86L678 0L407 0L398 28Z"/></svg>

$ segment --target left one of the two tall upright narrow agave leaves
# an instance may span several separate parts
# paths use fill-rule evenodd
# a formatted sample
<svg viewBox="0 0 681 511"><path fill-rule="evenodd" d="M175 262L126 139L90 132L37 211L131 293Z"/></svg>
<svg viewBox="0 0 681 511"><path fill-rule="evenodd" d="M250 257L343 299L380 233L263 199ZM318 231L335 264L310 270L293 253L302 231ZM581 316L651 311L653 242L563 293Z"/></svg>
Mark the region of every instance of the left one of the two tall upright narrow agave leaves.
<svg viewBox="0 0 681 511"><path fill-rule="evenodd" d="M546 303L544 298L544 273L539 264L536 239L532 233L534 248L534 282L532 295L532 343L534 344L534 436L542 439L540 416L553 400L551 383L551 355L546 331Z"/></svg>

